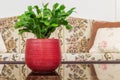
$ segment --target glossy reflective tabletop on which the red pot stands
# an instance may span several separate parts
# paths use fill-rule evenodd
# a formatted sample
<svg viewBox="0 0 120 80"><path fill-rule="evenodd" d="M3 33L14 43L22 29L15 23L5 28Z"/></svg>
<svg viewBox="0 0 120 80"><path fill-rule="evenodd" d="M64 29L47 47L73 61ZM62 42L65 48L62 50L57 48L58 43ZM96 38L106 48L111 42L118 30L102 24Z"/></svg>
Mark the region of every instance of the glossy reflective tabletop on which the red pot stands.
<svg viewBox="0 0 120 80"><path fill-rule="evenodd" d="M50 73L34 73L24 61L1 61L0 80L119 80L120 61L62 61ZM102 73L102 74L101 74ZM102 79L101 79L102 78Z"/></svg>

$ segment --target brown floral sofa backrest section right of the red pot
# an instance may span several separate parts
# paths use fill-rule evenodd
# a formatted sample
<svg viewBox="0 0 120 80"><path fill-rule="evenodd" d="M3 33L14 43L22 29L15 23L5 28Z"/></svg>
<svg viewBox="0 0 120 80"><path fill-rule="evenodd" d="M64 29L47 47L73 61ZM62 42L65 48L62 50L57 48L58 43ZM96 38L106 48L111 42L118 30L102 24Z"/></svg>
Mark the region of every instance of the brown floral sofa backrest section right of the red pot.
<svg viewBox="0 0 120 80"><path fill-rule="evenodd" d="M51 37L59 38L63 53L88 52L87 44L91 33L92 20L81 18L68 18L72 25L71 30L66 30L64 26L57 28Z"/></svg>

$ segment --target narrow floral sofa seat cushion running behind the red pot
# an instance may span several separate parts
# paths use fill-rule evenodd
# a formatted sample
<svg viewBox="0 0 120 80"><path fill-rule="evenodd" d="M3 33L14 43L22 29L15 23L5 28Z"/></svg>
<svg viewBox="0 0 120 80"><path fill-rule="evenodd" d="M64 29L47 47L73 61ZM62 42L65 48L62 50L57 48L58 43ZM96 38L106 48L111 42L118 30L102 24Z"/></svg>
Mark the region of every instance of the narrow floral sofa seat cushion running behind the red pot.
<svg viewBox="0 0 120 80"><path fill-rule="evenodd" d="M24 61L23 53L1 53L0 61ZM63 53L62 61L119 60L119 53Z"/></svg>

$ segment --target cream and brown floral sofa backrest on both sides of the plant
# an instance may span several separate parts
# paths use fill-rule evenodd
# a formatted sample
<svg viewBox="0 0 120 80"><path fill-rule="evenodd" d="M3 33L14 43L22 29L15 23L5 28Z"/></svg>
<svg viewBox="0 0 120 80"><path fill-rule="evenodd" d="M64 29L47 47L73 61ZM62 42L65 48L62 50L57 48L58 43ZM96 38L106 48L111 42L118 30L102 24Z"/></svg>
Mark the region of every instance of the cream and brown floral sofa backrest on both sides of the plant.
<svg viewBox="0 0 120 80"><path fill-rule="evenodd" d="M18 35L18 30L13 27L16 21L16 16L0 19L0 32L7 52L24 53L26 39L35 36L32 33ZM63 53L87 52L86 47L91 34L92 20L69 17L68 21L72 25L71 30L66 30L64 26L59 27L50 37L60 39Z"/></svg>

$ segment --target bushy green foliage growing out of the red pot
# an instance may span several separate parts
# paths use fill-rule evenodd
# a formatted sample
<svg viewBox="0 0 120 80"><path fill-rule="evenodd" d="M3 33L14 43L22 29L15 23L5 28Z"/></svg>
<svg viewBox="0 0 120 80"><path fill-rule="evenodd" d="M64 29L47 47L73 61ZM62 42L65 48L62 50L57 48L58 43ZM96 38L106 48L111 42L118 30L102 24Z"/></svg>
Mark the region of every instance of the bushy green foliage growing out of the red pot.
<svg viewBox="0 0 120 80"><path fill-rule="evenodd" d="M18 21L14 27L19 29L19 34L31 32L37 38L49 38L51 33L61 25L64 25L67 29L71 28L66 18L74 9L65 11L65 6L58 3L55 3L52 9L48 8L48 3L43 4L42 8L39 8L38 5L28 6L28 10L18 16Z"/></svg>

